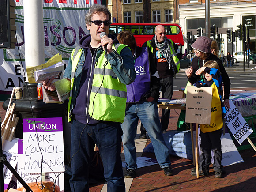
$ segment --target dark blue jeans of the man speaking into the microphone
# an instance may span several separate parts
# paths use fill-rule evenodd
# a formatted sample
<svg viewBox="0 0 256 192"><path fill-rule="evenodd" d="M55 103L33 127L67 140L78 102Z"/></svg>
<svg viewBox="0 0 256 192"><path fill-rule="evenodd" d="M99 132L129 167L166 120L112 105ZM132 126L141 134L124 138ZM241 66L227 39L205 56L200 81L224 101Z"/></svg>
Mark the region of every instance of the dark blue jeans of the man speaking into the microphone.
<svg viewBox="0 0 256 192"><path fill-rule="evenodd" d="M89 124L84 128L85 124L77 120L72 121L70 153L72 177L69 181L72 192L89 192L88 170L95 144L102 158L108 192L125 192L120 155L123 132L120 123L101 122Z"/></svg>

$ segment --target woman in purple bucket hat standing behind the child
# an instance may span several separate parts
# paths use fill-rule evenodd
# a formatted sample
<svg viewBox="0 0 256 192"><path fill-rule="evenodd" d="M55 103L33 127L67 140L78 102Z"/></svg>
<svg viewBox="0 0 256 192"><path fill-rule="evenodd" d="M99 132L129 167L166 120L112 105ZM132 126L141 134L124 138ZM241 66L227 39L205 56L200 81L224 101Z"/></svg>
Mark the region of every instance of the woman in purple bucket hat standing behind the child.
<svg viewBox="0 0 256 192"><path fill-rule="evenodd" d="M226 108L230 108L229 97L230 97L230 78L222 64L222 61L211 53L211 39L201 36L191 45L196 57L192 59L191 67L186 70L188 82L191 84L197 81L204 82L204 75L196 75L196 71L203 67L203 64L209 60L215 60L220 68L220 73L223 79L224 85L224 105Z"/></svg>

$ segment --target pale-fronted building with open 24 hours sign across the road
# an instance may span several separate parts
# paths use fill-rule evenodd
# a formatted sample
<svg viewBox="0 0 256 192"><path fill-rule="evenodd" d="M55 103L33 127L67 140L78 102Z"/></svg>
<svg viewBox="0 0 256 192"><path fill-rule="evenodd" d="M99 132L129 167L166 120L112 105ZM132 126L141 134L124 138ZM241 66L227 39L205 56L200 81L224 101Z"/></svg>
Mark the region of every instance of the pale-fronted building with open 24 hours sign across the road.
<svg viewBox="0 0 256 192"><path fill-rule="evenodd" d="M205 0L179 0L178 16L187 43L187 32L197 37L197 28L202 27L205 35ZM256 0L211 0L210 26L215 24L220 34L220 50L233 53L243 51L243 41L235 38L232 43L227 40L227 30L238 30L240 24L247 26L250 36L250 51L256 52ZM217 38L217 36L216 36ZM184 45L186 47L186 45Z"/></svg>

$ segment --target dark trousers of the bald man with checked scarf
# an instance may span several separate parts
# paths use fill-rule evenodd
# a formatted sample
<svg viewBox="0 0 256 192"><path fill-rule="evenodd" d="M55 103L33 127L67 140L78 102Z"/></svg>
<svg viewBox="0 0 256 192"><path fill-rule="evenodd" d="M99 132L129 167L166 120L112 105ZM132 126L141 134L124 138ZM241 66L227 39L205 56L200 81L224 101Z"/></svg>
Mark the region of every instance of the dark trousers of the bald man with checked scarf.
<svg viewBox="0 0 256 192"><path fill-rule="evenodd" d="M172 99L173 97L173 76L160 78L162 98ZM170 109L162 109L161 126L162 131L168 129ZM144 124L143 124L144 125Z"/></svg>

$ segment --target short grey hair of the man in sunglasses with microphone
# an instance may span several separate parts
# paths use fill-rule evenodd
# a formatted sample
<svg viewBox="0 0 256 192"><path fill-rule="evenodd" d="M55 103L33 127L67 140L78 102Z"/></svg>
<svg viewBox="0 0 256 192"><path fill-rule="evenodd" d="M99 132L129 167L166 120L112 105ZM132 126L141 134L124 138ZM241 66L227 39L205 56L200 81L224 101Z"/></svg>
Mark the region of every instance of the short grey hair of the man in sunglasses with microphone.
<svg viewBox="0 0 256 192"><path fill-rule="evenodd" d="M91 18L95 13L105 13L109 15L109 20L111 21L111 13L105 5L93 4L85 15L85 23L87 25L91 25Z"/></svg>

